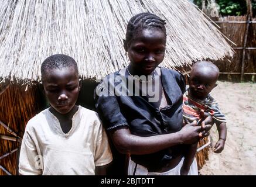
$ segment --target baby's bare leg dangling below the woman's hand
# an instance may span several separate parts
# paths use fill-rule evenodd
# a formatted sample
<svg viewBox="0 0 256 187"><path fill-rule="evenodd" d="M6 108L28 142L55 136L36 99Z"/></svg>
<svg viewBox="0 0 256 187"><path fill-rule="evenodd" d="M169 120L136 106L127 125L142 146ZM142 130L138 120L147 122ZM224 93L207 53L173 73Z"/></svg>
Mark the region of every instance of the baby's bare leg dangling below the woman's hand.
<svg viewBox="0 0 256 187"><path fill-rule="evenodd" d="M194 156L196 155L197 143L188 145L187 152L185 153L185 159L180 169L180 175L189 174L190 165L194 161Z"/></svg>

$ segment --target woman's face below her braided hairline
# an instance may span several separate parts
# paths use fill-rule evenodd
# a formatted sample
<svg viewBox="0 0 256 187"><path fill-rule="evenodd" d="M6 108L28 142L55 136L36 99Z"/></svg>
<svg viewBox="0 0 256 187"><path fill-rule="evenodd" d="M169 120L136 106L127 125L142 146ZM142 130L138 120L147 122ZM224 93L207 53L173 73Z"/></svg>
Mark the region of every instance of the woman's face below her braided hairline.
<svg viewBox="0 0 256 187"><path fill-rule="evenodd" d="M160 29L141 30L127 47L132 70L138 75L151 74L165 57L166 35Z"/></svg>

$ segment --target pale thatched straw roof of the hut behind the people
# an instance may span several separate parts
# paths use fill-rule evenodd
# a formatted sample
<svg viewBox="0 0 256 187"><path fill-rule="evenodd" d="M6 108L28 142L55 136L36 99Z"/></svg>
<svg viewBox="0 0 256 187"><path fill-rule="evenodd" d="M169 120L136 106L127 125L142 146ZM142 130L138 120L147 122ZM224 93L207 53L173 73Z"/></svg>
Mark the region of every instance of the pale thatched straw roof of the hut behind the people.
<svg viewBox="0 0 256 187"><path fill-rule="evenodd" d="M84 78L102 78L128 64L122 47L128 20L152 12L167 20L165 67L233 56L221 33L186 0L1 2L0 77L40 80L40 64L63 53Z"/></svg>

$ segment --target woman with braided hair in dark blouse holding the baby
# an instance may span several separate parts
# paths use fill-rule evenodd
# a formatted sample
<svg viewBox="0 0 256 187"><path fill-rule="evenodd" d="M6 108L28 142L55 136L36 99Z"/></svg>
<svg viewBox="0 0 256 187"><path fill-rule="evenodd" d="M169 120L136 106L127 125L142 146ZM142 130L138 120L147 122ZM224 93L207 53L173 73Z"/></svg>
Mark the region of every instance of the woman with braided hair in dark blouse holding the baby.
<svg viewBox="0 0 256 187"><path fill-rule="evenodd" d="M95 90L112 143L131 155L128 175L180 175L186 145L209 135L211 117L202 127L183 125L185 81L182 74L158 67L165 46L165 21L152 13L135 15L124 40L128 67L105 77ZM196 161L192 174L197 175Z"/></svg>

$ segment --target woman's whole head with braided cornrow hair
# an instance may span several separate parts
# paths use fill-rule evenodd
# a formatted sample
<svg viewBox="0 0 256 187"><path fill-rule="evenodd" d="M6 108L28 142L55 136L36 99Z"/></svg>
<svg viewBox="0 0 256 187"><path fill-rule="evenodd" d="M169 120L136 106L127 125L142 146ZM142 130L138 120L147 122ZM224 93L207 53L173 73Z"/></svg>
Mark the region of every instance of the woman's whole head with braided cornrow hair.
<svg viewBox="0 0 256 187"><path fill-rule="evenodd" d="M165 57L165 20L145 12L133 16L127 25L124 49L138 74L151 74Z"/></svg>

